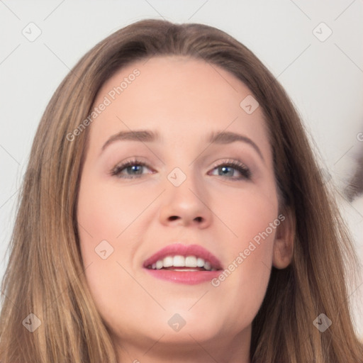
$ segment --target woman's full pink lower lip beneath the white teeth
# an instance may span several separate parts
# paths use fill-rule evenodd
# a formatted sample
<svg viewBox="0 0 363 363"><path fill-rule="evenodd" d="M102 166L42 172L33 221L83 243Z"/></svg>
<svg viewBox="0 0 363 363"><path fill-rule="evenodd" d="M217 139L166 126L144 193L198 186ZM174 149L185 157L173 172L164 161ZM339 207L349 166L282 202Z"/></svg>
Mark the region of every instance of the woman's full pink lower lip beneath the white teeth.
<svg viewBox="0 0 363 363"><path fill-rule="evenodd" d="M220 271L172 271L168 269L146 269L157 279L176 282L177 284L195 285L210 282L218 277Z"/></svg>

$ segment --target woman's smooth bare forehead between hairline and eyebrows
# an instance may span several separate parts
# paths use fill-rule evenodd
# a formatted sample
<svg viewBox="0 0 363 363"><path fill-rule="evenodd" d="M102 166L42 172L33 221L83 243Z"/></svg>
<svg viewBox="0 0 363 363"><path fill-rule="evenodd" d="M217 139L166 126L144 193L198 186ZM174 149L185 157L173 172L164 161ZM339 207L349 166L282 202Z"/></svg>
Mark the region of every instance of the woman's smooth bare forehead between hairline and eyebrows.
<svg viewBox="0 0 363 363"><path fill-rule="evenodd" d="M206 130L243 131L266 144L262 111L257 107L249 114L242 108L250 97L250 89L233 74L203 60L140 60L119 69L99 90L94 106L108 106L92 123L91 139L147 126L189 141Z"/></svg>

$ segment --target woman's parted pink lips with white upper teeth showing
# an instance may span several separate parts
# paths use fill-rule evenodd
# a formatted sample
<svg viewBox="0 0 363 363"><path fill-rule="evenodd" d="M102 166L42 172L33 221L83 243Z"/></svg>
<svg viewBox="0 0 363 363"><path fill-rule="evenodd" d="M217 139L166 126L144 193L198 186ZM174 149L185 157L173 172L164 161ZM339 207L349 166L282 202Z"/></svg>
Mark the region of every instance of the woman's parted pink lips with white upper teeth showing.
<svg viewBox="0 0 363 363"><path fill-rule="evenodd" d="M205 248L181 243L162 248L143 267L154 277L184 284L211 280L222 269L220 260Z"/></svg>

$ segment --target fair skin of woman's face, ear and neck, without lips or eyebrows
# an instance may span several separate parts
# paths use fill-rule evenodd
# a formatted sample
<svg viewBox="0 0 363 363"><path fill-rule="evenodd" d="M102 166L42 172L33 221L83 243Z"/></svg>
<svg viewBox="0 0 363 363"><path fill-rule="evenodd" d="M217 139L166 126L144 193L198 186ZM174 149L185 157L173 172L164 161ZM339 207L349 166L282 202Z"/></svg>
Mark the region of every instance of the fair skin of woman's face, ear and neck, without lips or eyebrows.
<svg viewBox="0 0 363 363"><path fill-rule="evenodd" d="M145 259L172 242L198 244L227 268L281 213L262 110L247 114L251 92L232 74L202 60L154 57L121 69L102 86L94 105L137 68L140 75L91 123L80 181L77 220L89 289L117 347L119 362L250 362L251 324L272 265L291 262L291 218L273 229L218 287L162 281L143 269ZM108 98L110 98L108 96ZM150 129L162 141L106 140L121 130ZM232 131L248 143L210 144L211 130ZM77 141L74 141L77 142ZM110 171L138 157L142 174ZM240 160L251 179L230 168ZM186 175L180 186L167 176ZM233 174L234 173L234 174ZM176 218L170 218L175 216ZM113 247L96 254L102 240ZM175 332L168 320L186 321Z"/></svg>

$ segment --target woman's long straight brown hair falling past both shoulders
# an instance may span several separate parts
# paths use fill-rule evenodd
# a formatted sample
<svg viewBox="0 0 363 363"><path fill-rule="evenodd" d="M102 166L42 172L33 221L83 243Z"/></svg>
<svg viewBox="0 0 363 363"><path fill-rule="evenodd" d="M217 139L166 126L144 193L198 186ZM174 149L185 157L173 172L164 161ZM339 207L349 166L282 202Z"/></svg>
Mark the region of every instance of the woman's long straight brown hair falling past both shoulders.
<svg viewBox="0 0 363 363"><path fill-rule="evenodd" d="M315 161L298 113L277 79L244 45L201 24L144 20L116 31L82 57L48 104L21 189L0 315L2 363L116 362L116 350L84 277L77 194L89 127L69 140L102 84L136 60L195 57L240 79L269 129L280 208L294 212L293 261L272 269L252 323L254 363L363 362L349 310L352 240ZM348 273L349 272L349 273ZM39 323L31 333L26 323ZM332 325L320 332L324 313ZM30 320L27 320L30 319ZM33 326L33 325L32 325Z"/></svg>

